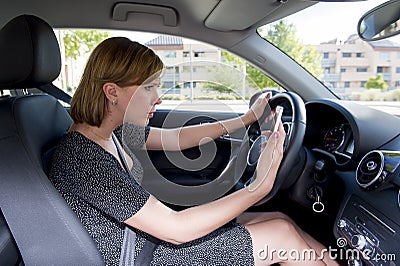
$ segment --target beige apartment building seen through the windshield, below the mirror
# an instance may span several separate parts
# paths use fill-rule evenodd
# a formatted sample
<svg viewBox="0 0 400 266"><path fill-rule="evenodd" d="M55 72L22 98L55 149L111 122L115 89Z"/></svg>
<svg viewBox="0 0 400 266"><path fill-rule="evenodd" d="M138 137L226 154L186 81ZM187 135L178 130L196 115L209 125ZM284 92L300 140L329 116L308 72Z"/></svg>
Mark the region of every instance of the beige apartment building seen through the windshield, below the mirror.
<svg viewBox="0 0 400 266"><path fill-rule="evenodd" d="M370 77L381 74L389 89L400 88L400 44L388 40L365 42L351 35L317 45L324 69L323 81L338 92L365 88Z"/></svg>

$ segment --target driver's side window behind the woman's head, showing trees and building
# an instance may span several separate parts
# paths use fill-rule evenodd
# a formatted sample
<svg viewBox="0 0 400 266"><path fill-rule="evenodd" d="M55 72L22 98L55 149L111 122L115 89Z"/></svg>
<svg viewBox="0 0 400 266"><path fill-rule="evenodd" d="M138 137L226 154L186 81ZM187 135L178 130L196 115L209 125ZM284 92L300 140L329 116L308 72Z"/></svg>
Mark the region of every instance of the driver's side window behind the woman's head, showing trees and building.
<svg viewBox="0 0 400 266"><path fill-rule="evenodd" d="M125 36L150 47L164 62L159 90L163 102L159 109L183 109L193 111L232 111L248 110L250 97L260 89L281 88L266 75L255 69L243 59L218 47L176 36L143 34L122 31L90 31L93 40L80 40L80 48L69 45L66 34L74 30L56 30L63 56L61 75L55 85L73 94L79 84L86 60L95 46L103 39L112 36ZM79 36L86 36L79 31ZM72 48L70 48L72 47Z"/></svg>

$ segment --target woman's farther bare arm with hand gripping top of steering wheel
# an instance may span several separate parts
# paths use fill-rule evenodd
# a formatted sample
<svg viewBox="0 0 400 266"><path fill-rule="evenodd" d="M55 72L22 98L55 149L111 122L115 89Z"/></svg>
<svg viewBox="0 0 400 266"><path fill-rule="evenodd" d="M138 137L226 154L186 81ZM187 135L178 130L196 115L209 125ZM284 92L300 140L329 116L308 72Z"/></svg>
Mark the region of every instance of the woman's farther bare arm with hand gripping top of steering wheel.
<svg viewBox="0 0 400 266"><path fill-rule="evenodd" d="M151 128L145 148L148 150L184 150L199 146L221 135L232 133L257 120L271 94L261 95L244 115L219 122L174 129Z"/></svg>

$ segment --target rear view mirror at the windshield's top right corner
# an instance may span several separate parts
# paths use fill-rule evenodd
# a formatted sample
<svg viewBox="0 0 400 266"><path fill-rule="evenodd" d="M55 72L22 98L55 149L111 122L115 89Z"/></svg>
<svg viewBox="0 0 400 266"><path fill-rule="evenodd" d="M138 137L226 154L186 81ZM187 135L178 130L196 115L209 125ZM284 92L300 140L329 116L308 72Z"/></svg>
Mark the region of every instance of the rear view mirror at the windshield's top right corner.
<svg viewBox="0 0 400 266"><path fill-rule="evenodd" d="M364 14L357 25L365 41L376 41L400 33L400 0L390 0Z"/></svg>

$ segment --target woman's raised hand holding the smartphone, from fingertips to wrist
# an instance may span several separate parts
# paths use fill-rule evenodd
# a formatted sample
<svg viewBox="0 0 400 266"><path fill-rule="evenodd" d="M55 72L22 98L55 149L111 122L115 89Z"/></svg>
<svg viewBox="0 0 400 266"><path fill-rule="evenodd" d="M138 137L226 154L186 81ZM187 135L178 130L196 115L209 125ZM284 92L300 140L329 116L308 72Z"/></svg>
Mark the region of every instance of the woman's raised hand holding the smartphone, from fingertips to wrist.
<svg viewBox="0 0 400 266"><path fill-rule="evenodd" d="M262 151L256 169L256 179L247 187L250 191L267 195L275 183L276 174L283 158L283 143L285 130L280 122L278 131L270 134L266 143L262 145Z"/></svg>

